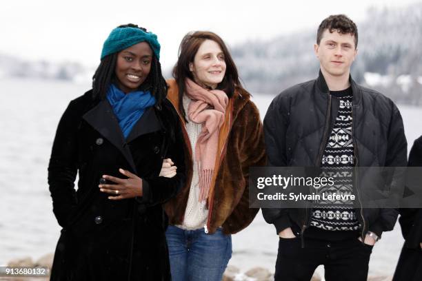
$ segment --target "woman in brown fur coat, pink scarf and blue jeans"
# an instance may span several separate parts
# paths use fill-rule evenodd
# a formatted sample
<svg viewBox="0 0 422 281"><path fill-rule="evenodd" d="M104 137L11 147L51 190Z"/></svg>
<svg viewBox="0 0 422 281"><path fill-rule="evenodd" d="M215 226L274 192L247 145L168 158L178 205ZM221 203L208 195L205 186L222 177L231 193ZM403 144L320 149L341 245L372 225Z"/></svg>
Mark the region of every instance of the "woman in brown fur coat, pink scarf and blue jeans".
<svg viewBox="0 0 422 281"><path fill-rule="evenodd" d="M265 165L262 123L217 34L187 34L173 76L168 98L182 123L187 177L165 205L172 278L220 281L231 234L258 212L249 207L248 177Z"/></svg>

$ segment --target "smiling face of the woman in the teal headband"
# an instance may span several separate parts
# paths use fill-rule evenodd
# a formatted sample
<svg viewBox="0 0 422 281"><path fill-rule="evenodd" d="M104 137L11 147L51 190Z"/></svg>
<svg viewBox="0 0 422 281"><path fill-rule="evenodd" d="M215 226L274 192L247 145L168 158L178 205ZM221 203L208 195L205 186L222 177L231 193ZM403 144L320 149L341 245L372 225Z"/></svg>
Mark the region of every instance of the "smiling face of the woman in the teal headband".
<svg viewBox="0 0 422 281"><path fill-rule="evenodd" d="M117 87L128 94L137 90L151 70L152 50L146 42L137 43L117 54L114 70Z"/></svg>

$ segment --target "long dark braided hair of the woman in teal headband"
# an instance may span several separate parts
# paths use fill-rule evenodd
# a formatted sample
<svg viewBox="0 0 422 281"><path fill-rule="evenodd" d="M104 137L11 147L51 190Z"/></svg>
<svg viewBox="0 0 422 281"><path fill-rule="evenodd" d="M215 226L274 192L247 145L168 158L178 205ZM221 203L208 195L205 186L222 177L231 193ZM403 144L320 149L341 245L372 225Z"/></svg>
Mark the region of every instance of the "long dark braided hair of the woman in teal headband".
<svg viewBox="0 0 422 281"><path fill-rule="evenodd" d="M139 28L147 32L145 28L141 28L133 23L119 25L117 28ZM101 59L101 63L97 67L97 70L95 70L94 76L92 76L92 98L105 99L110 85L116 81L117 77L114 70L116 69L117 54L115 52ZM150 73L147 79L139 86L139 90L150 91L157 101L155 106L161 109L161 101L167 96L167 88L167 83L165 83L161 72L161 63L157 59L157 56L154 55L152 56Z"/></svg>

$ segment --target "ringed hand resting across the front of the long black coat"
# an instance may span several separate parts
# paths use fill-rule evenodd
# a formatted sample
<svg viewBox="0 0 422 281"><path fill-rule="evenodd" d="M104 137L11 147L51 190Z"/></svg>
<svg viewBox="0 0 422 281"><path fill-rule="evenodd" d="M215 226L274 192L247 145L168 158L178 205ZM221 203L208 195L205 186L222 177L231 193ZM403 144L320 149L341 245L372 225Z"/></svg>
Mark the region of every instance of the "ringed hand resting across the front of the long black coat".
<svg viewBox="0 0 422 281"><path fill-rule="evenodd" d="M119 169L123 176L128 178L116 178L114 176L103 175L103 178L115 183L112 185L99 185L100 191L115 196L108 196L110 200L121 200L142 196L142 180L139 176L132 174L130 171Z"/></svg>

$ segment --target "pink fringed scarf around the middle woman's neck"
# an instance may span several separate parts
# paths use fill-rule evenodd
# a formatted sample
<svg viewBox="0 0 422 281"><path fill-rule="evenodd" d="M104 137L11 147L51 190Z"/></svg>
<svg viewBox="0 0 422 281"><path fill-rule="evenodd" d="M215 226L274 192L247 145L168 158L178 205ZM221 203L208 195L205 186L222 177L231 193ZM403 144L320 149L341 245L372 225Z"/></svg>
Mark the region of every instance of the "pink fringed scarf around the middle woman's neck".
<svg viewBox="0 0 422 281"><path fill-rule="evenodd" d="M199 163L199 202L208 198L219 145L219 132L224 123L228 96L221 90L206 90L190 79L185 81L185 94L192 101L188 106L190 121L202 125L195 144L195 160Z"/></svg>

